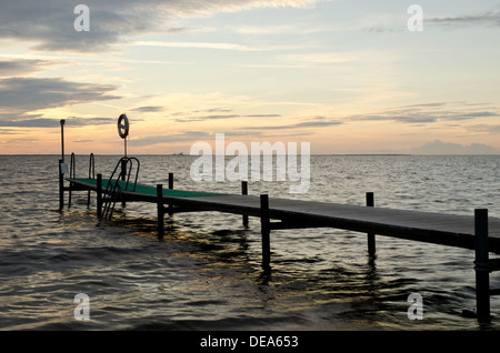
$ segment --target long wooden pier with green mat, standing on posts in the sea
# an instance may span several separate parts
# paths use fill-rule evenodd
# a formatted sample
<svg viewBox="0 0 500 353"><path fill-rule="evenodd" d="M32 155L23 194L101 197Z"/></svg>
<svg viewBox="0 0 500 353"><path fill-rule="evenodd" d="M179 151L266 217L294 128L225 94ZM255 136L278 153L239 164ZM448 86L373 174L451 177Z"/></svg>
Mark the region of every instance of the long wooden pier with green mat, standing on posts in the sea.
<svg viewBox="0 0 500 353"><path fill-rule="evenodd" d="M60 161L60 165L61 165ZM70 186L64 188L63 181ZM98 200L98 216L103 216L103 200L113 192L106 186L108 180L101 174L97 178L63 178L59 169L60 198L63 192L94 191ZM121 181L123 183L124 181ZM122 184L114 202L149 202L157 206L158 235L164 234L166 213L217 211L241 214L243 224L248 216L260 219L262 236L262 266L270 269L271 230L302 228L336 228L368 234L368 251L376 252L376 235L386 235L412 241L458 246L476 252L474 271L477 289L477 317L488 323L490 316L490 295L500 294L490 290L489 273L500 270L500 261L490 260L489 253L500 254L500 219L489 218L488 210L474 210L471 215L456 215L433 212L396 210L373 206L373 194L367 193L367 206L314 201L269 198L267 194L248 195L248 185L242 182L242 194L221 194L179 191L173 189L173 175L169 174L169 185L156 186ZM62 206L63 200L60 199Z"/></svg>

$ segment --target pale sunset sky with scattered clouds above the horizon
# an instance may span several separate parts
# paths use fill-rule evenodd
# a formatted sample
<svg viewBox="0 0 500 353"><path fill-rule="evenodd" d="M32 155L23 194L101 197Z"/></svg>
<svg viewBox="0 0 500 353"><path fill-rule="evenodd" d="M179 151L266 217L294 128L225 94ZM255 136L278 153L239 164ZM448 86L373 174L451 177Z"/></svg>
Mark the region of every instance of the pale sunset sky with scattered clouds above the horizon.
<svg viewBox="0 0 500 353"><path fill-rule="evenodd" d="M489 0L0 0L0 154L60 153L61 119L121 154L122 113L129 154L498 154L499 38Z"/></svg>

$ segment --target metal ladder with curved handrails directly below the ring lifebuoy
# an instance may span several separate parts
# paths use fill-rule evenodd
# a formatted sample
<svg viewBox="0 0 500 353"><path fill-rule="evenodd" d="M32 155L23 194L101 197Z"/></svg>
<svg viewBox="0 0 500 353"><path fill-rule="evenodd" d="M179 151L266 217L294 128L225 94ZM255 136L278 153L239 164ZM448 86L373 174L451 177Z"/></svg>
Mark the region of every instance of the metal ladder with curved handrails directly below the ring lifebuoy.
<svg viewBox="0 0 500 353"><path fill-rule="evenodd" d="M102 203L102 218L110 220L113 215L114 205L119 200L122 200L122 191L136 191L137 179L139 176L140 162L134 157L122 157L117 167L114 167L111 176L106 184L103 203ZM136 172L133 184L130 183L130 175L132 170ZM118 172L119 171L119 172ZM118 172L118 173L117 173ZM124 182L124 188L120 181ZM129 189L129 185L131 188Z"/></svg>

